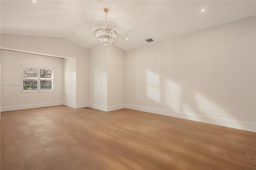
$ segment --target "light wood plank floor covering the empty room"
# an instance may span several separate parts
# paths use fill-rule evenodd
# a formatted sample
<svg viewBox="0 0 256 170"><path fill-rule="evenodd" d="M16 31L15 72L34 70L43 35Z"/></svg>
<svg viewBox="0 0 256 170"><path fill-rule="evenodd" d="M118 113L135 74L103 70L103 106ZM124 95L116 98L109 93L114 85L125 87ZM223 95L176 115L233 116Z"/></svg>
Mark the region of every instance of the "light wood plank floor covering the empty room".
<svg viewBox="0 0 256 170"><path fill-rule="evenodd" d="M121 109L1 113L1 170L251 170L256 133Z"/></svg>

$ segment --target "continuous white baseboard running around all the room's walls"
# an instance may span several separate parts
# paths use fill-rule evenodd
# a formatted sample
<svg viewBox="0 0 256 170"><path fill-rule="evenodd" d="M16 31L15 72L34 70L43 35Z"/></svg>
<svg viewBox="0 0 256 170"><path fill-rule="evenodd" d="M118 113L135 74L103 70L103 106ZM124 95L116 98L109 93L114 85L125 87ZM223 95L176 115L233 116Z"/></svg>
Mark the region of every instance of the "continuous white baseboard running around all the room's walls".
<svg viewBox="0 0 256 170"><path fill-rule="evenodd" d="M32 108L38 108L38 107L57 106L57 105L66 105L73 108L90 107L90 108L98 109L105 112L127 108L127 109L133 109L137 111L156 113L159 115L178 117L178 118L188 119L192 121L210 123L213 125L220 125L224 127L237 128L241 130L256 132L256 124L254 123L240 122L240 121L234 121L229 119L221 119L216 117L209 117L209 116L196 115L191 113L183 113L183 112L176 112L176 111L156 109L152 107L144 107L144 106L138 106L138 105L128 105L128 104L106 107L101 105L95 105L92 103L74 104L74 103L59 101L59 102L50 102L50 103L36 103L36 104L29 104L29 105L6 106L6 107L1 107L0 109L1 109L1 112L4 112L4 111L14 111L14 110L21 110L21 109L32 109Z"/></svg>

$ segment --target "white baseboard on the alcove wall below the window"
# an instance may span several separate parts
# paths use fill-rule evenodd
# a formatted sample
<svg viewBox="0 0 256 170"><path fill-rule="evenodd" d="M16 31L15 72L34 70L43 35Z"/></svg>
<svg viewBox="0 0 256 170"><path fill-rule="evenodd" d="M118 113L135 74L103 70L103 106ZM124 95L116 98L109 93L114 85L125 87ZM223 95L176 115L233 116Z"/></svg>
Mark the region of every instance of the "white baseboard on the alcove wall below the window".
<svg viewBox="0 0 256 170"><path fill-rule="evenodd" d="M28 105L4 106L4 107L1 107L1 112L16 111L16 110L22 110L22 109L32 109L32 108L38 108L38 107L49 107L49 106L57 106L57 105L63 105L63 101L49 102L49 103L36 103L36 104L28 104Z"/></svg>

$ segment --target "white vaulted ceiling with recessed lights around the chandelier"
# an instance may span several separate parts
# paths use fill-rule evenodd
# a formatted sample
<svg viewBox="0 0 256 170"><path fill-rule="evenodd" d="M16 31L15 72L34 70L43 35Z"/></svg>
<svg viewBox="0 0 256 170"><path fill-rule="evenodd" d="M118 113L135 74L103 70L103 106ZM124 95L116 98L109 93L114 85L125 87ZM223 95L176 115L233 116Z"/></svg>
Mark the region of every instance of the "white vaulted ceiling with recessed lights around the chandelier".
<svg viewBox="0 0 256 170"><path fill-rule="evenodd" d="M148 38L160 42L256 15L254 0L1 0L0 6L1 34L66 38L86 48L99 44L92 24L105 20L108 8L107 21L119 26L114 44L125 51L149 44Z"/></svg>

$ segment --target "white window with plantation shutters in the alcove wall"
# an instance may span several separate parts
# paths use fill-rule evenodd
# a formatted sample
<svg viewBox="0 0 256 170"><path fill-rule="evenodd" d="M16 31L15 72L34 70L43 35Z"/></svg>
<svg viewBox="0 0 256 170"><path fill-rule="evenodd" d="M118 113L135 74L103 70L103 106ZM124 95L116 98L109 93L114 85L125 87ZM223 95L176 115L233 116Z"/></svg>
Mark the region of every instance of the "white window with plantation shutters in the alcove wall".
<svg viewBox="0 0 256 170"><path fill-rule="evenodd" d="M54 91L53 68L22 65L22 92Z"/></svg>

